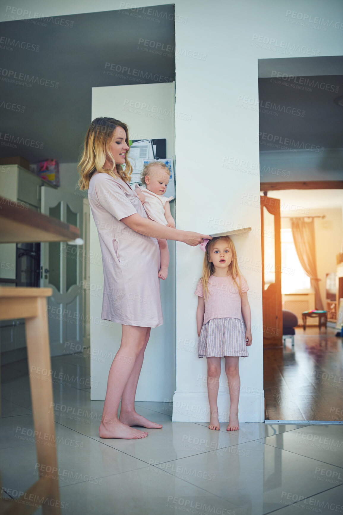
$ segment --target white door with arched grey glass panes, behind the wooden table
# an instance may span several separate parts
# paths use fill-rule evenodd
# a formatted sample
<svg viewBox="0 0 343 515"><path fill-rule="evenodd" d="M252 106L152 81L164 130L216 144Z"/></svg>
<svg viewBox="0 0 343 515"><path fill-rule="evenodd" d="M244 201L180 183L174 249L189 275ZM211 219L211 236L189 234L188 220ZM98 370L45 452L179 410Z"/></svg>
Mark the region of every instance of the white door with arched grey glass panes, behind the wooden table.
<svg viewBox="0 0 343 515"><path fill-rule="evenodd" d="M80 229L83 198L42 186L42 213ZM68 353L83 344L83 247L67 242L41 244L41 286L52 288L48 298L51 356Z"/></svg>

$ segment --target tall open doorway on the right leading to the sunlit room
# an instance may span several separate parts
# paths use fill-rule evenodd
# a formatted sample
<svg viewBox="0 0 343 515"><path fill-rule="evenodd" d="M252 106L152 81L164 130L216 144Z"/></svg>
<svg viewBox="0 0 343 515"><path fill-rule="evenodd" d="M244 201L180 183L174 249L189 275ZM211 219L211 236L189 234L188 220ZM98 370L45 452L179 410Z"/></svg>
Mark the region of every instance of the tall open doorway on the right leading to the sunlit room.
<svg viewBox="0 0 343 515"><path fill-rule="evenodd" d="M342 85L340 56L259 61L268 421L343 423Z"/></svg>

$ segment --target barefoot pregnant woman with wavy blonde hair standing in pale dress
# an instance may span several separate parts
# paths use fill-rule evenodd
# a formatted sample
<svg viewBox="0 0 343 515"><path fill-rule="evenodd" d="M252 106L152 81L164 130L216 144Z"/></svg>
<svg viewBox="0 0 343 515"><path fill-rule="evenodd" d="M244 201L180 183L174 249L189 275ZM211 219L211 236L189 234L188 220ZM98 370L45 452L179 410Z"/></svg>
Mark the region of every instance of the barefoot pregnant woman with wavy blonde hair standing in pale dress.
<svg viewBox="0 0 343 515"><path fill-rule="evenodd" d="M181 231L148 219L129 185L128 127L114 118L96 118L89 127L78 169L81 190L98 229L104 273L101 319L122 324L120 348L110 368L101 438L145 438L132 426L161 428L135 411L135 394L151 328L163 323L156 238L195 246L208 234ZM123 169L122 165L125 164ZM121 399L120 416L118 408Z"/></svg>

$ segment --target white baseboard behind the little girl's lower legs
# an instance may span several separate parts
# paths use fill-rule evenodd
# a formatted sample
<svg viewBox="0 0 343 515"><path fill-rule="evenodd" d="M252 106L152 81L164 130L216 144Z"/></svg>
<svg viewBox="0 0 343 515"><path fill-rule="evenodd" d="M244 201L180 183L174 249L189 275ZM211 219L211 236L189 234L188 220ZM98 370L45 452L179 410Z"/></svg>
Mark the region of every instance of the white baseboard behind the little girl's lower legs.
<svg viewBox="0 0 343 515"><path fill-rule="evenodd" d="M230 398L218 394L219 421L229 421ZM238 405L240 422L264 422L264 392L240 392ZM175 391L173 422L209 422L207 392Z"/></svg>

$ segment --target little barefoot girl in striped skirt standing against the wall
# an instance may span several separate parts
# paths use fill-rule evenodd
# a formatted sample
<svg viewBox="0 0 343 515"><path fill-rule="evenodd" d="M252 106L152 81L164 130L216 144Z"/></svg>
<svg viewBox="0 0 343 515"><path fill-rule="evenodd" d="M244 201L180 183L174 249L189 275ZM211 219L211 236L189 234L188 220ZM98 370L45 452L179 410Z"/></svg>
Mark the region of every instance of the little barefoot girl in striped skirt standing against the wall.
<svg viewBox="0 0 343 515"><path fill-rule="evenodd" d="M248 289L238 268L236 249L231 238L221 236L211 239L205 247L203 274L194 293L198 296L198 357L207 358L207 391L210 403L208 427L213 430L220 429L217 398L223 356L230 393L227 431L239 429L238 401L241 382L238 362L239 356L248 356L246 347L252 341Z"/></svg>

